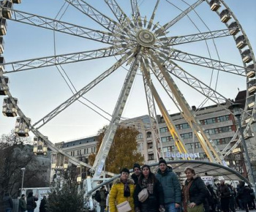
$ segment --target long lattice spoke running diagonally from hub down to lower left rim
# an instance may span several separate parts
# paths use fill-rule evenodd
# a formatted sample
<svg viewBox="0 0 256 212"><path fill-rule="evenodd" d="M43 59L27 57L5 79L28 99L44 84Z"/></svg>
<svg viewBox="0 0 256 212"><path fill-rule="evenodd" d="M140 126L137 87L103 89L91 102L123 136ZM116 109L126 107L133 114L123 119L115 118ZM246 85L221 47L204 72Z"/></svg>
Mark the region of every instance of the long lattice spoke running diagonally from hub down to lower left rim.
<svg viewBox="0 0 256 212"><path fill-rule="evenodd" d="M67 99L65 102L63 102L61 105L56 107L54 110L52 110L48 115L45 117L41 118L39 121L37 121L33 127L37 127L39 129L41 126L45 125L50 121L52 118L57 116L59 113L61 113L63 110L65 110L69 105L72 105L75 101L77 101L81 96L86 94L88 91L91 90L94 86L96 86L98 83L100 83L102 80L104 80L106 77L108 77L110 74L112 74L116 69L121 67L129 58L129 56L132 54L132 50L127 52L125 56L120 58L118 61L116 61L115 64L113 64L110 69L107 71L103 72L102 75L99 75L96 79L92 80L91 83L80 89L80 91L76 92L74 95L72 95L69 99Z"/></svg>

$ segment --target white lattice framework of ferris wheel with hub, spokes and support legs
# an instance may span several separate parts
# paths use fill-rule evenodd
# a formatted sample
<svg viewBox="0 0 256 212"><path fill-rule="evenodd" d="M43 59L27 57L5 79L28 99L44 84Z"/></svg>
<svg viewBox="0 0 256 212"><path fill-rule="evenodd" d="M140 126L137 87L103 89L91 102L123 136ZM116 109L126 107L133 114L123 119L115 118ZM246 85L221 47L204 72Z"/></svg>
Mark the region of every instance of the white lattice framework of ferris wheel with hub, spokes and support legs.
<svg viewBox="0 0 256 212"><path fill-rule="evenodd" d="M165 119L165 124L172 135L178 151L189 154L186 142L178 133L176 125L174 124L170 114L167 112L167 105L162 101L159 95L159 88L156 84L159 83L163 90L169 96L168 98L173 101L181 115L185 118L187 123L192 129L192 132L197 137L200 145L205 151L208 160L219 164L225 164L225 158L229 156L235 148L241 143L241 135L237 131L230 143L222 151L219 150L217 145L212 142L211 137L206 134L206 130L197 118L194 110L189 106L189 103L182 91L178 88L176 80L189 86L193 91L197 91L206 97L214 104L228 110L227 107L233 102L222 95L216 88L209 86L208 83L200 80L192 72L199 68L210 69L217 72L225 72L227 75L238 76L246 79L246 105L242 109L244 135L251 132L251 125L255 122L255 55L250 45L249 39L246 36L243 27L238 22L236 16L227 7L224 0L211 1L211 0L198 0L189 2L187 8L179 11L175 18L168 21L155 20L159 18L159 11L161 4L169 5L169 1L156 0L151 1L153 11L149 15L149 19L142 16L143 6L137 0L129 1L129 12L123 10L121 7L124 2L117 0L104 0L101 5L104 5L105 10L110 10L111 16L105 12L98 10L97 4L94 5L91 1L86 0L63 0L69 7L86 15L86 18L91 19L95 23L95 28L79 26L78 24L68 23L56 18L46 18L41 15L35 15L29 12L19 11L13 8L12 3L15 1L3 1L1 3L1 20L7 22L17 22L26 26L42 28L45 30L54 31L60 34L67 34L67 36L79 37L80 39L90 40L99 45L102 44L103 48L94 48L94 50L85 50L77 53L66 53L53 56L45 56L38 58L29 58L20 61L2 60L0 69L0 91L2 95L6 95L8 99L8 108L14 112L6 113L10 116L19 116L15 132L20 136L26 136L27 132L31 131L36 137L42 139L43 143L48 146L55 153L66 156L69 162L77 166L85 166L91 169L94 173L93 178L89 181L95 182L103 173L105 160L109 154L110 147L113 143L113 138L121 121L121 116L124 107L127 103L132 85L134 84L135 77L141 74L143 77L143 86L145 88L146 100L148 105L148 114L151 118L151 130L154 140L154 153L158 156L162 154L162 142L159 137L159 124L157 123L157 110L162 114ZM91 2L91 3L89 3ZM99 5L98 5L99 6ZM222 23L225 23L227 29L208 30L199 33L173 36L172 29L180 23L185 17L196 11L199 7L208 8L208 12L216 12ZM102 7L102 6L101 6ZM18 6L17 6L18 8ZM162 7L161 7L162 8ZM158 16L157 16L158 15ZM160 23L160 21L162 21ZM4 22L1 22L1 29L4 29ZM4 32L4 31L2 31ZM170 33L171 32L171 33ZM4 37L4 33L1 34ZM236 41L238 52L241 55L241 63L233 64L233 62L221 61L219 58L212 58L210 56L201 56L200 53L189 53L182 48L184 45L196 44L198 42L214 41L217 39L229 38ZM180 48L181 47L181 48ZM100 60L101 58L116 58L116 62L101 75L96 77L91 83L88 83L79 91L76 91L67 100L63 101L59 106L55 107L47 115L39 120L33 120L31 124L30 118L23 113L20 109L17 99L12 96L12 88L9 86L9 75L15 75L17 72L26 72L30 69L48 68L53 66L65 64L77 64L81 61ZM184 65L185 64L185 65ZM187 66L186 66L187 65ZM39 129L48 124L53 118L59 116L74 102L78 101L86 93L91 91L95 86L110 77L113 72L117 72L121 67L127 67L127 76L121 88L116 107L113 109L110 124L102 140L102 145L99 148L93 165L81 162L70 156L60 148L57 148L48 137L45 137ZM192 68L191 68L192 67ZM191 70L189 70L191 69ZM250 83L249 83L250 82ZM253 83L254 82L254 83ZM250 97L250 99L249 99ZM105 172L109 175L112 173ZM93 188L95 184L86 188ZM89 192L89 191L86 191Z"/></svg>

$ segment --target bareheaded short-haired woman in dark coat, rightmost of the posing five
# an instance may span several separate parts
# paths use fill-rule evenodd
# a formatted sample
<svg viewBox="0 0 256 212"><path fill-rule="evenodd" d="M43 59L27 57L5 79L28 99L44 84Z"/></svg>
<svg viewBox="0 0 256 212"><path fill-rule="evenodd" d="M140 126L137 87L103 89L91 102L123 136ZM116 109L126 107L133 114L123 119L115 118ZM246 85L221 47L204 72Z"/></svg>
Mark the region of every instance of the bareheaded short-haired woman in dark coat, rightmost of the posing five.
<svg viewBox="0 0 256 212"><path fill-rule="evenodd" d="M205 183L192 167L184 170L187 180L182 189L184 212L203 212L203 202L208 195Z"/></svg>

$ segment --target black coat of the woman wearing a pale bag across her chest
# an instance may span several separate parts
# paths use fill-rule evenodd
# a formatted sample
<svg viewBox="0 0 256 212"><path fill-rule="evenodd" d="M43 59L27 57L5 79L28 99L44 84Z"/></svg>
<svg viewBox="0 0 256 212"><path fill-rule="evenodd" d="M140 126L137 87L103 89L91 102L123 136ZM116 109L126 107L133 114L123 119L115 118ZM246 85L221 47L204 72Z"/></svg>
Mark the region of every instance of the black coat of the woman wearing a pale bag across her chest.
<svg viewBox="0 0 256 212"><path fill-rule="evenodd" d="M139 183L135 188L134 202L135 208L140 208L140 212L157 212L159 211L159 205L164 205L164 193L162 191L161 183L156 179L153 188L153 194L148 195L148 199L145 202L138 200L138 194L142 190L142 185Z"/></svg>

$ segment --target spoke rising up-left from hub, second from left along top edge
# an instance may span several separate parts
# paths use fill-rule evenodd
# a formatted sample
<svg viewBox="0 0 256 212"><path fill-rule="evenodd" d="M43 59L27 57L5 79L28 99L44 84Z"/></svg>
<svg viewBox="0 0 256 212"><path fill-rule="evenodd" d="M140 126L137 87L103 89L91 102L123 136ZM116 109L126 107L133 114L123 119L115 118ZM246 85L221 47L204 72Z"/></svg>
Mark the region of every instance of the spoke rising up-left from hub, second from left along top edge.
<svg viewBox="0 0 256 212"><path fill-rule="evenodd" d="M116 16L116 19L122 26L131 26L132 28L134 27L134 24L127 17L125 12L121 10L121 7L119 7L116 0L104 0L104 1L106 2L106 4L108 4L108 7L110 7L110 10L113 12L113 14ZM125 27L124 29L127 29L127 27Z"/></svg>

